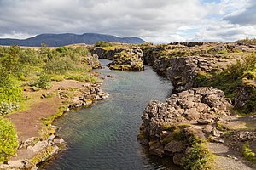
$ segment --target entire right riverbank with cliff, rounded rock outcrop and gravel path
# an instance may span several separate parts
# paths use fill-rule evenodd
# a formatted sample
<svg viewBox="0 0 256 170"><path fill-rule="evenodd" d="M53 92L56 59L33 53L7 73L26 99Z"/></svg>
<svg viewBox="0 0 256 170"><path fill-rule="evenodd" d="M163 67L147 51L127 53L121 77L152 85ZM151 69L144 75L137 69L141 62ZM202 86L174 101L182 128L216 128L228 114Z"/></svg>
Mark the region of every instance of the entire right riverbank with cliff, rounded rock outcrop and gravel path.
<svg viewBox="0 0 256 170"><path fill-rule="evenodd" d="M177 42L158 46L145 44L141 48L144 64L152 65L154 71L170 78L174 87L170 99L164 103L150 102L148 107L151 106L152 111L146 108L143 113L138 139L143 139L142 143L148 145L152 154L171 155L174 162L188 169L206 168L204 166L208 166L211 155L216 158L211 163L212 169L223 169L228 164L229 169L255 168L255 45L244 42ZM227 97L232 116L211 120L212 116L222 115L224 105L214 108L221 99L216 95L208 98L207 91L198 99L197 94L191 94L197 87L214 87L223 91L222 96ZM201 110L205 104L210 107L205 110L207 117ZM145 113L148 116L144 116ZM183 141L182 136L195 136L196 140L193 139L191 144ZM177 141L183 143L178 149ZM222 147L216 151L211 147L212 142ZM189 157L191 151L195 157ZM232 163L234 160L236 163Z"/></svg>

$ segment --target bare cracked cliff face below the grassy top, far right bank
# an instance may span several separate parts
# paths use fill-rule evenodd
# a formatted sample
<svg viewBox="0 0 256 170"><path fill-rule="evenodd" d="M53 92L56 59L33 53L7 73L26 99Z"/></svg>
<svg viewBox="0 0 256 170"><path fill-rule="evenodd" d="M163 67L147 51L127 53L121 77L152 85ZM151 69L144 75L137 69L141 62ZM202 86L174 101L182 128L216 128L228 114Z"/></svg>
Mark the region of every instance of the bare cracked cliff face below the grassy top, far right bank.
<svg viewBox="0 0 256 170"><path fill-rule="evenodd" d="M195 78L198 73L221 71L235 62L236 59L224 59L221 55L161 58L154 62L154 71L171 78L175 91L181 92L197 86Z"/></svg>

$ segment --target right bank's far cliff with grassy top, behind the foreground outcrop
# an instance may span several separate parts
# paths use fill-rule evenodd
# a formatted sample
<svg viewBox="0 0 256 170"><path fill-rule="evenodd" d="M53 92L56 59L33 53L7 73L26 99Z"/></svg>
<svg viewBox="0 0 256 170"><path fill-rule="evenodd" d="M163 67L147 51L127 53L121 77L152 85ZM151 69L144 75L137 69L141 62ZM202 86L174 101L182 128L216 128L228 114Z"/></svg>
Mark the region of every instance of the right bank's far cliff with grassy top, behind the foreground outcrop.
<svg viewBox="0 0 256 170"><path fill-rule="evenodd" d="M174 42L142 46L145 65L172 80L174 92L197 87L200 72L221 71L255 48L238 43Z"/></svg>

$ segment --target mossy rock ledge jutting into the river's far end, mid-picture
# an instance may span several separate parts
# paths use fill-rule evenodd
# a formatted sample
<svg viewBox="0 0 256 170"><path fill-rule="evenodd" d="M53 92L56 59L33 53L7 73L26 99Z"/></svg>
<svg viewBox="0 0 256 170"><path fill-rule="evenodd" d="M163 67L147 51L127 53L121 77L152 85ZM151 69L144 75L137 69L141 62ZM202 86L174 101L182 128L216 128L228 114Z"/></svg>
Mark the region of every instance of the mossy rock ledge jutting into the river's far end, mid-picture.
<svg viewBox="0 0 256 170"><path fill-rule="evenodd" d="M92 54L100 59L113 60L108 67L119 71L143 71L143 51L138 47L117 46L108 48L93 48Z"/></svg>

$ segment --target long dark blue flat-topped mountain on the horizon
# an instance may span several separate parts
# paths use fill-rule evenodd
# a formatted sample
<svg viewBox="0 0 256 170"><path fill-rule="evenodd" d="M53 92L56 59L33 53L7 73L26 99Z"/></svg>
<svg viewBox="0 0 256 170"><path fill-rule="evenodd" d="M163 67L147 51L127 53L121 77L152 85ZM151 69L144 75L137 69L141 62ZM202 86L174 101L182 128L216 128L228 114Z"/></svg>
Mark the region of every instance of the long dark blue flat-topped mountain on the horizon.
<svg viewBox="0 0 256 170"><path fill-rule="evenodd" d="M47 44L49 47L65 46L73 43L86 43L94 44L99 41L106 42L122 42L122 43L143 43L143 39L139 37L116 37L105 34L84 33L83 35L77 34L40 34L36 37L30 37L24 40L3 38L0 39L0 45L19 45L40 47L42 43Z"/></svg>

